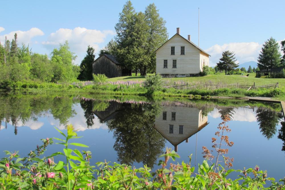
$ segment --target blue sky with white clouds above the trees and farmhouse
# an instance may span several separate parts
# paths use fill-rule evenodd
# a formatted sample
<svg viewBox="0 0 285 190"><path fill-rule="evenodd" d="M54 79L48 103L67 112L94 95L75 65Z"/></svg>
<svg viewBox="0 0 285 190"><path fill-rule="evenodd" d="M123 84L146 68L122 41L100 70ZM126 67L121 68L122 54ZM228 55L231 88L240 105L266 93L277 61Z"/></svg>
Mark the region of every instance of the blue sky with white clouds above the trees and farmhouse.
<svg viewBox="0 0 285 190"><path fill-rule="evenodd" d="M117 1L1 1L0 41L18 34L18 45L25 43L32 52L50 55L68 40L80 64L87 46L98 53L115 35L115 24L125 0ZM200 47L211 55L215 66L221 53L234 51L242 64L257 61L262 44L271 36L285 39L285 1L131 1L135 10L144 11L150 3L166 21L169 36L180 34L198 45L200 8ZM13 12L12 12L13 11ZM96 55L96 58L98 56Z"/></svg>

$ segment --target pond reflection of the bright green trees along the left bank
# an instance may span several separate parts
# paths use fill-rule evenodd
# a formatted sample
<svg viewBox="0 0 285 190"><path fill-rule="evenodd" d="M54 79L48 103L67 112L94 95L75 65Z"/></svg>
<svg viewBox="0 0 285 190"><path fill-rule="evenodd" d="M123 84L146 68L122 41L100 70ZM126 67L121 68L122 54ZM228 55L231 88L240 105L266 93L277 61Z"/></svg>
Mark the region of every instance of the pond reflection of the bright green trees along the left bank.
<svg viewBox="0 0 285 190"><path fill-rule="evenodd" d="M5 120L5 127L10 121L14 133L18 133L19 122L25 124L29 120L36 121L38 117L48 113L58 119L60 124L67 124L68 119L76 114L72 108L72 98L31 97L7 95L0 97L0 124Z"/></svg>

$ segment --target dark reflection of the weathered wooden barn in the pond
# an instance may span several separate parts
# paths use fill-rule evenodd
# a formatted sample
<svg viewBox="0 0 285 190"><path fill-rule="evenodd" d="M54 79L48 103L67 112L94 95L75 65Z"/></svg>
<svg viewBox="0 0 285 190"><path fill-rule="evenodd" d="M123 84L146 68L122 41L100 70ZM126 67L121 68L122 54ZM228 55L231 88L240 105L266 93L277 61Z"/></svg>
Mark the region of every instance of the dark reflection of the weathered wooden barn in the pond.
<svg viewBox="0 0 285 190"><path fill-rule="evenodd" d="M110 119L115 118L115 115L120 111L121 107L122 107L121 103L116 101L110 101L109 106L104 111L93 111L93 112L99 118L100 123L104 123Z"/></svg>

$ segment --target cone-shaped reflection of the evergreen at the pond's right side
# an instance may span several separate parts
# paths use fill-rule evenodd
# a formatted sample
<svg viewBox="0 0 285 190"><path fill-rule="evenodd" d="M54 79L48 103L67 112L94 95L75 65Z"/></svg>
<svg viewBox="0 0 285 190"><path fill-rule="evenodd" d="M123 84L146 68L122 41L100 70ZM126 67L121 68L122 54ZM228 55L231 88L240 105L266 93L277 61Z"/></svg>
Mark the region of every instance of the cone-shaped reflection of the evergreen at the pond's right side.
<svg viewBox="0 0 285 190"><path fill-rule="evenodd" d="M274 134L276 134L276 126L278 125L280 117L282 117L281 114L270 109L258 108L256 116L260 132L262 132L267 139L272 138Z"/></svg>

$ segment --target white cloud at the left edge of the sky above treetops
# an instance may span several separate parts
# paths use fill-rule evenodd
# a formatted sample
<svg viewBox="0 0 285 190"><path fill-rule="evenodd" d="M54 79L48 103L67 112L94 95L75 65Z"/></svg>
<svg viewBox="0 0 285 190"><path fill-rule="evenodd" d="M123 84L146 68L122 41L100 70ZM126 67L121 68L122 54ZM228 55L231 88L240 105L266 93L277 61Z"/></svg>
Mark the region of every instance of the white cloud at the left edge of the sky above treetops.
<svg viewBox="0 0 285 190"><path fill-rule="evenodd" d="M5 29L0 27L0 32L4 31ZM32 38L35 36L43 36L44 32L40 30L39 28L31 28L27 31L17 30L10 32L9 34L3 34L0 36L1 42L5 41L5 37L7 36L7 39L11 42L14 38L14 34L17 33L18 36L18 45L21 45L22 43L29 44L31 43Z"/></svg>

